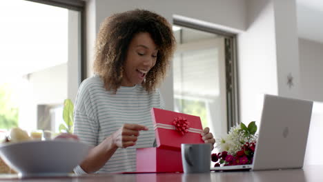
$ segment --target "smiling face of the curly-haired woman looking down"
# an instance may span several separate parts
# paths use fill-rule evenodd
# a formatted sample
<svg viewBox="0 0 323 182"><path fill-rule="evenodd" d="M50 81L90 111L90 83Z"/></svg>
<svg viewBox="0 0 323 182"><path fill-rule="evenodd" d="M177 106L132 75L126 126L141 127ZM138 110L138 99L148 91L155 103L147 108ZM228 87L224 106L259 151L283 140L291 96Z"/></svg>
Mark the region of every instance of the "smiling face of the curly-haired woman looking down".
<svg viewBox="0 0 323 182"><path fill-rule="evenodd" d="M130 41L121 86L132 87L144 81L156 63L157 46L148 32L139 32Z"/></svg>

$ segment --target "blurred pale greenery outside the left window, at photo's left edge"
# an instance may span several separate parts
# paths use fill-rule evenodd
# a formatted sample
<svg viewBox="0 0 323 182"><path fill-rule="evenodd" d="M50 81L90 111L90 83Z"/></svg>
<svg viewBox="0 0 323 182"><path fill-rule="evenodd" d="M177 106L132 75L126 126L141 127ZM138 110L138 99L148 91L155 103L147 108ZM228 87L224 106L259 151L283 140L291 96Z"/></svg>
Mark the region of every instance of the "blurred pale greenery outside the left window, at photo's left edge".
<svg viewBox="0 0 323 182"><path fill-rule="evenodd" d="M9 83L0 83L0 128L10 129L18 126L19 109L13 101Z"/></svg>

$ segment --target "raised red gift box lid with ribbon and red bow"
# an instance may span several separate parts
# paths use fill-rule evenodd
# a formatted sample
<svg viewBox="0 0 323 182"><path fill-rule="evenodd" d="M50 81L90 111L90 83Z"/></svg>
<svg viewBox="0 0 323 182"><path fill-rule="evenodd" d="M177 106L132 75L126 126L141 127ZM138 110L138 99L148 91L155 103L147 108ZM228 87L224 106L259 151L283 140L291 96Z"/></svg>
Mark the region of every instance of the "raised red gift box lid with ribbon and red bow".
<svg viewBox="0 0 323 182"><path fill-rule="evenodd" d="M199 117L158 108L152 108L150 112L153 117L158 148L180 150L182 143L204 143ZM186 130L186 132L179 132L176 129Z"/></svg>

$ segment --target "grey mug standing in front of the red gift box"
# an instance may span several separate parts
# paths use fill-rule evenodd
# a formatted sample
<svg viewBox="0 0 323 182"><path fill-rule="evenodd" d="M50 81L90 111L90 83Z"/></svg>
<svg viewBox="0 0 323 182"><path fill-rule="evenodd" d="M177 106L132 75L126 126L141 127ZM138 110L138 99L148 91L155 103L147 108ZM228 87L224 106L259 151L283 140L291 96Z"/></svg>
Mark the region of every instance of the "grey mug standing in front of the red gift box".
<svg viewBox="0 0 323 182"><path fill-rule="evenodd" d="M185 173L210 172L210 143L182 143L182 163Z"/></svg>

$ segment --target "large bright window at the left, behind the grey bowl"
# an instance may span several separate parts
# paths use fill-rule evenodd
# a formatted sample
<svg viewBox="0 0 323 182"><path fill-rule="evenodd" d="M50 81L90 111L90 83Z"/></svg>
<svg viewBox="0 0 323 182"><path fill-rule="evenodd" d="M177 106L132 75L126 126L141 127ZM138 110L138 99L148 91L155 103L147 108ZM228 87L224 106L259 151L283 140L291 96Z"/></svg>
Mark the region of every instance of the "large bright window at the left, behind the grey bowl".
<svg viewBox="0 0 323 182"><path fill-rule="evenodd" d="M63 101L85 75L84 1L10 0L0 9L0 129L57 132Z"/></svg>

